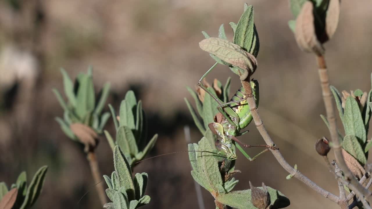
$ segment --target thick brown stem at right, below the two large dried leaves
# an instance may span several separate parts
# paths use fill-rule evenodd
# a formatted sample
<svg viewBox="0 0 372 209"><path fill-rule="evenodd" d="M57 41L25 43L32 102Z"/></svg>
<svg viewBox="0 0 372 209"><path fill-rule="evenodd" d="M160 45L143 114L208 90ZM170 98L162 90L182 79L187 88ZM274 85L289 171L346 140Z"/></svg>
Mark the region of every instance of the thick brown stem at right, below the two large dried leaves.
<svg viewBox="0 0 372 209"><path fill-rule="evenodd" d="M344 173L345 179L349 181L355 189L359 190L361 194L365 197L369 197L371 192L366 190L354 177L353 173L349 170L346 166L345 160L343 158L341 152L341 145L337 134L337 127L336 127L336 118L334 116L334 108L332 102L332 93L329 87L329 78L328 78L328 70L325 64L325 60L323 56L317 56L317 63L318 63L318 73L320 78L320 83L322 87L322 95L324 101L325 112L327 113L327 120L330 125L330 135L331 135L331 142L333 143L332 149L334 155L336 157L337 164L341 168ZM363 198L363 197L360 197Z"/></svg>

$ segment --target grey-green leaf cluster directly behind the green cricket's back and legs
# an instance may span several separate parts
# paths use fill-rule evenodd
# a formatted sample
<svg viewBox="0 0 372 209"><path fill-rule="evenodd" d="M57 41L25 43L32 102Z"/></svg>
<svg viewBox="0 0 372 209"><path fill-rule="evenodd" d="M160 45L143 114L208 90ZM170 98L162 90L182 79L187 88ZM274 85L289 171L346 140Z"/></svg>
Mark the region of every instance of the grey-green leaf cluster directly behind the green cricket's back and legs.
<svg viewBox="0 0 372 209"><path fill-rule="evenodd" d="M231 78L227 78L226 84L222 86L221 82L215 80L215 84L208 87L208 90L211 91L215 96L222 100L222 102L226 103L229 100L229 91L230 91L230 81ZM216 100L212 98L211 95L204 92L204 97L201 97L202 89L198 89L198 91L192 90L190 87L186 87L187 91L191 94L193 99L195 100L196 110L199 114L196 113L195 109L191 106L189 100L185 99L187 108L189 109L191 116L195 122L196 127L198 127L199 131L203 136L208 138L211 142L214 143L215 135L212 134L211 130L208 128L209 123L214 122L214 116L218 113L217 107L218 103ZM217 93L218 92L218 93ZM199 119L200 118L200 119Z"/></svg>

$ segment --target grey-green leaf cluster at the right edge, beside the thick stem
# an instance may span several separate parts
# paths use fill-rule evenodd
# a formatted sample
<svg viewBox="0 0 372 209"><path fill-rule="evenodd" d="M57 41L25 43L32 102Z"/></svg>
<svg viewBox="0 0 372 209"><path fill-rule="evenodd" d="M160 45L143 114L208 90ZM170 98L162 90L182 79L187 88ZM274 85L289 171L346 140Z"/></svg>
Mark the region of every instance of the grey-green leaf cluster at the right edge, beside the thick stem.
<svg viewBox="0 0 372 209"><path fill-rule="evenodd" d="M372 86L372 74L371 74ZM339 132L339 139L343 141L343 148L355 157L361 165L365 165L368 157L368 150L372 147L371 140L367 140L369 120L371 119L372 89L369 93L363 93L357 89L351 95L340 92L330 86L336 106L339 110L341 122L344 127L345 136ZM346 98L345 98L346 97ZM321 115L329 128L327 119Z"/></svg>

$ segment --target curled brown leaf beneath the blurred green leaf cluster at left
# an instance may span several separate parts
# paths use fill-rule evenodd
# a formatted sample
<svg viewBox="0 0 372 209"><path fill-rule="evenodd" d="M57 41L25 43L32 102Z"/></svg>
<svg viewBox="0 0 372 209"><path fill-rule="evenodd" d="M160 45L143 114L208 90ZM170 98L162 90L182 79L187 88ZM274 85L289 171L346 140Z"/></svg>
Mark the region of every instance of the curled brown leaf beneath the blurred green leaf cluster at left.
<svg viewBox="0 0 372 209"><path fill-rule="evenodd" d="M82 123L72 123L70 129L81 143L85 145L85 152L96 147L98 135L92 128Z"/></svg>

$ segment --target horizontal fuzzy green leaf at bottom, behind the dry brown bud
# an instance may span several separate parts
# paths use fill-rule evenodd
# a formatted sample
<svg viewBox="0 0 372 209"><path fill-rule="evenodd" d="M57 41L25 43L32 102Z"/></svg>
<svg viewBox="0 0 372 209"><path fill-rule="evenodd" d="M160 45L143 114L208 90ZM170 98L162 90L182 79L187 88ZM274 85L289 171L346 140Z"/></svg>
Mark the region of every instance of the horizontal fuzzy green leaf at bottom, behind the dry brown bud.
<svg viewBox="0 0 372 209"><path fill-rule="evenodd" d="M262 189L262 187L257 188ZM271 187L266 186L266 188L270 194L271 205L273 205L270 208L285 208L290 205L289 199L284 196L284 194ZM254 207L252 204L250 189L220 194L217 196L216 200L224 205L231 206L232 208L256 209L256 207Z"/></svg>

